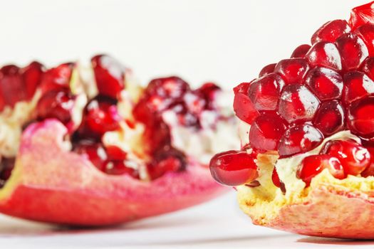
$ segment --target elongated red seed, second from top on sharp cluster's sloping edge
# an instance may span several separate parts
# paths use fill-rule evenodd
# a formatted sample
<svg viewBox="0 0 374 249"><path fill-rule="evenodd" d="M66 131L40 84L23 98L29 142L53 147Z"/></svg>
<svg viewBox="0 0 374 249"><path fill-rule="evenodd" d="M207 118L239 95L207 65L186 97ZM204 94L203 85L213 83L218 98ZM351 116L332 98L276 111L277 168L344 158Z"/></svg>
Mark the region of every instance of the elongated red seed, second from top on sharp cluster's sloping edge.
<svg viewBox="0 0 374 249"><path fill-rule="evenodd" d="M313 34L311 43L314 44L318 41L328 41L333 43L339 36L343 35L343 33L348 33L349 31L350 27L346 20L328 21Z"/></svg>

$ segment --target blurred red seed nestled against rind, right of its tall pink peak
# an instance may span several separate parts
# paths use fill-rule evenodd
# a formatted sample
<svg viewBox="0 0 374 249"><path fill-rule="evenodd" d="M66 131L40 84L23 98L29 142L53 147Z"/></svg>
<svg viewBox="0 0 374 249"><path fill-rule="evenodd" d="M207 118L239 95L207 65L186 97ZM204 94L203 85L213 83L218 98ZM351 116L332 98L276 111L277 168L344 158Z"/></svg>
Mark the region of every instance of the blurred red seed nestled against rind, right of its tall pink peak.
<svg viewBox="0 0 374 249"><path fill-rule="evenodd" d="M102 144L81 140L75 145L73 151L89 159L100 171L105 170L105 162L108 159L108 155Z"/></svg>

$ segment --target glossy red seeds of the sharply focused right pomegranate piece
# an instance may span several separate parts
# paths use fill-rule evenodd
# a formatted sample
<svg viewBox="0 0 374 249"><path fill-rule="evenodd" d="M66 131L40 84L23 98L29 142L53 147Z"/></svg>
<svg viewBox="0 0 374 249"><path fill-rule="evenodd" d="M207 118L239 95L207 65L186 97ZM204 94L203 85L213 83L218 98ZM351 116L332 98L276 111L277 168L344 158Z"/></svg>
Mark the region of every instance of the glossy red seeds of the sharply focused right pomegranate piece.
<svg viewBox="0 0 374 249"><path fill-rule="evenodd" d="M259 78L234 88L234 111L251 126L249 144L243 144L237 156L227 152L230 157L244 157L247 147L291 157L349 130L363 145L349 140L328 142L321 154L303 160L298 178L308 185L323 169L338 179L348 174L374 176L370 157L374 147L373 10L373 3L365 4L353 9L348 22L328 21L313 34L311 46L298 46L291 58L266 65ZM227 173L212 172L214 178L224 184L245 184L245 174L230 174L239 166L227 162L219 166L223 164L220 157L225 154L212 160L211 169L224 167L220 172ZM246 167L244 162L241 167ZM272 179L281 187L275 170Z"/></svg>

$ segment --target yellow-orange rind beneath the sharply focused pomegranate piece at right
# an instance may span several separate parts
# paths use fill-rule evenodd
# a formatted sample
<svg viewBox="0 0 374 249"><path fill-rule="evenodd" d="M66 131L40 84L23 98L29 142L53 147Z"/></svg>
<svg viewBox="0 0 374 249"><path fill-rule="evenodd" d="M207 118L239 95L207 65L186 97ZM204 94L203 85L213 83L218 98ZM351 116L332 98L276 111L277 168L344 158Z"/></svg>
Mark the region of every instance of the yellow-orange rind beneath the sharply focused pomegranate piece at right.
<svg viewBox="0 0 374 249"><path fill-rule="evenodd" d="M239 203L255 225L328 238L374 238L373 190L353 191L321 183L313 186L301 202L282 206L270 219L254 213L256 203L245 198L239 198Z"/></svg>

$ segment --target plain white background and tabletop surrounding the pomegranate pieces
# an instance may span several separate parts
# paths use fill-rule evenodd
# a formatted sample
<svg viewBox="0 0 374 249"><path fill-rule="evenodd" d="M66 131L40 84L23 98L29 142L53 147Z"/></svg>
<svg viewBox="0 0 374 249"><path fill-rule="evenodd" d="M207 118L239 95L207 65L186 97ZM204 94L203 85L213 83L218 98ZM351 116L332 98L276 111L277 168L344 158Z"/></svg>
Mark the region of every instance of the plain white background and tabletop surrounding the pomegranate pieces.
<svg viewBox="0 0 374 249"><path fill-rule="evenodd" d="M288 58L326 21L365 1L4 1L0 63L47 65L109 53L142 83L180 75L232 88ZM167 216L103 230L67 230L0 216L0 248L105 246L351 248L370 241L308 238L252 226L234 193Z"/></svg>

